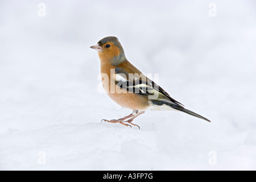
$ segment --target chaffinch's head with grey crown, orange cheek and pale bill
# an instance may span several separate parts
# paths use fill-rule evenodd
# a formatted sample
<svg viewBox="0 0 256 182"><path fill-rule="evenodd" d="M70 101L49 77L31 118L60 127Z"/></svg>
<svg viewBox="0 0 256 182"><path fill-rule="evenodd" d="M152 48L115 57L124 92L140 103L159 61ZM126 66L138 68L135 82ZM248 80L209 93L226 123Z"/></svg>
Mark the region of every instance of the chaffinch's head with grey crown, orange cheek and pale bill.
<svg viewBox="0 0 256 182"><path fill-rule="evenodd" d="M103 38L90 48L98 51L101 60L110 61L110 64L112 65L120 64L126 60L121 43L115 36Z"/></svg>

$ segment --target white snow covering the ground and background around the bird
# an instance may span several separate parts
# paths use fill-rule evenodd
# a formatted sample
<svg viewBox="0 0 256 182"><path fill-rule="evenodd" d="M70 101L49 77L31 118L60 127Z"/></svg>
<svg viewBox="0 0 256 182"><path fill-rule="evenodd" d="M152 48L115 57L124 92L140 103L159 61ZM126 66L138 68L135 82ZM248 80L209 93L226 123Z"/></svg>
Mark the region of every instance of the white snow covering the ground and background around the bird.
<svg viewBox="0 0 256 182"><path fill-rule="evenodd" d="M0 2L0 170L256 169L255 1ZM208 15L215 3L217 16ZM127 59L188 109L131 113L98 92L89 47ZM154 77L153 77L154 80Z"/></svg>

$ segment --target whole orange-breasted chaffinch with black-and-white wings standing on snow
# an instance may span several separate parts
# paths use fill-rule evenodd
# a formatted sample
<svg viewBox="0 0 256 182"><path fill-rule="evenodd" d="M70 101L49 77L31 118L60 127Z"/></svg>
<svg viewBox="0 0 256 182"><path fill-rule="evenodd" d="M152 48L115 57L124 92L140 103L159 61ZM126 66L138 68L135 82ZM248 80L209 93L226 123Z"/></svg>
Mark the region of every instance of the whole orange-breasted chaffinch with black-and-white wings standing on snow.
<svg viewBox="0 0 256 182"><path fill-rule="evenodd" d="M146 110L177 110L210 122L209 119L185 109L183 104L134 67L126 59L123 47L115 36L105 37L90 48L98 52L105 92L118 105L133 110L126 117L101 121L137 126L140 129L133 121Z"/></svg>

